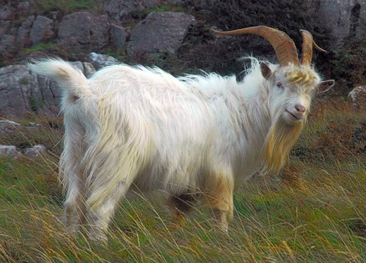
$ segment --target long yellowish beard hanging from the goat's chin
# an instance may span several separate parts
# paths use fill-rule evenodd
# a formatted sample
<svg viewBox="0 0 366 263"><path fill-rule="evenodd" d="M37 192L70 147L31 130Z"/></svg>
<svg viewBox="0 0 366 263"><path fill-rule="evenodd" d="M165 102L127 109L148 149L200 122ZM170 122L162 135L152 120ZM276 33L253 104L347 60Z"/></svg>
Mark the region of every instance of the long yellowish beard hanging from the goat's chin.
<svg viewBox="0 0 366 263"><path fill-rule="evenodd" d="M298 140L303 124L306 120L294 124L287 124L284 120L277 120L269 129L262 157L264 160L262 173L279 174L281 167L288 160L288 155Z"/></svg>

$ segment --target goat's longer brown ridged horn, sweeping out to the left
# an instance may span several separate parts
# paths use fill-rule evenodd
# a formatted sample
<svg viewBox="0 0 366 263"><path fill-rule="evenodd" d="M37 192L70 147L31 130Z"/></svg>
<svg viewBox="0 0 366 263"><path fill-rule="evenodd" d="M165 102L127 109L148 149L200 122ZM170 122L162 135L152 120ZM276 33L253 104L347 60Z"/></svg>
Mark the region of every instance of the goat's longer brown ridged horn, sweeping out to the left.
<svg viewBox="0 0 366 263"><path fill-rule="evenodd" d="M252 26L250 28L242 28L231 31L212 31L221 35L237 35L237 34L255 34L264 37L275 49L276 56L281 66L287 66L288 63L299 64L298 53L294 41L284 32L270 28L268 26Z"/></svg>

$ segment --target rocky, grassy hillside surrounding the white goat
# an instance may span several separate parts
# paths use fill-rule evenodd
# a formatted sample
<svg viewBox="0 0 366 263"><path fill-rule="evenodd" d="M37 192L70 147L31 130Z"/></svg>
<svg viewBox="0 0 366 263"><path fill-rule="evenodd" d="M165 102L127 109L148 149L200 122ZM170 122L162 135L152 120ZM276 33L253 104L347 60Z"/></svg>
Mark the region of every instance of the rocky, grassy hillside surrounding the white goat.
<svg viewBox="0 0 366 263"><path fill-rule="evenodd" d="M0 262L366 262L366 107L347 98L366 84L366 1L324 3L0 1ZM161 192L121 201L107 244L66 233L60 93L26 62L59 56L87 77L124 62L240 80L240 58L276 62L273 48L210 29L260 24L287 33L299 54L298 30L309 30L328 51L314 51L314 65L336 85L314 99L280 175L255 175L235 194L229 235L204 208L177 222Z"/></svg>

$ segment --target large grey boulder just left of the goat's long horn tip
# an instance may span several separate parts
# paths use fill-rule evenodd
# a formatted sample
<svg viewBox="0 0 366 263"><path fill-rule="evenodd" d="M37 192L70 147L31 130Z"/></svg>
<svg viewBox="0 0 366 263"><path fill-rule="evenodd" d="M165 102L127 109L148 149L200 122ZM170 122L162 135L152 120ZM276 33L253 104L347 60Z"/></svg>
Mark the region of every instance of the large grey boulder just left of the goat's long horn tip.
<svg viewBox="0 0 366 263"><path fill-rule="evenodd" d="M136 58L143 53L169 52L174 54L183 42L188 27L196 19L184 13L151 12L131 30L127 54Z"/></svg>

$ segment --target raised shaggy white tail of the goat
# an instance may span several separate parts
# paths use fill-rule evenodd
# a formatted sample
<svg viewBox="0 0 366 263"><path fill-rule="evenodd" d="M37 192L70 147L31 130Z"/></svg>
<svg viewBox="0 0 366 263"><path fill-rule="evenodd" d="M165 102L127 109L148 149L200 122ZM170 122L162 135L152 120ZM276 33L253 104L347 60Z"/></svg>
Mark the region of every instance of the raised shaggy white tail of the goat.
<svg viewBox="0 0 366 263"><path fill-rule="evenodd" d="M44 59L35 63L28 63L29 69L39 75L53 78L63 90L64 98L88 96L88 79L84 74L62 59Z"/></svg>

